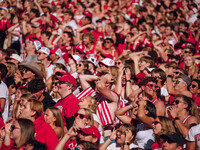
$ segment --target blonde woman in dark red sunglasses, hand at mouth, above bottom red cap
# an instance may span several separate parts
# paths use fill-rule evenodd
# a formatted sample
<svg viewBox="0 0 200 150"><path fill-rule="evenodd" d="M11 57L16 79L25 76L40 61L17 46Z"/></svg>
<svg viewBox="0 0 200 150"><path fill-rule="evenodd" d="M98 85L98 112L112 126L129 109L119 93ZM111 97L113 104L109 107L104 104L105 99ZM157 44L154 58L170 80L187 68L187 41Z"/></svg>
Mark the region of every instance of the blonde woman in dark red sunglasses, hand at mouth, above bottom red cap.
<svg viewBox="0 0 200 150"><path fill-rule="evenodd" d="M86 126L93 125L93 124L94 124L94 120L93 120L92 112L89 109L80 108L78 112L75 113L75 120L74 120L73 126L64 135L62 140L56 146L55 150L60 150L63 148L74 149L77 145L78 138L80 138L80 140L85 140L85 141L91 140L91 138L84 139L84 136L86 136L87 134L84 134L84 132L81 132L81 130L83 131L83 129Z"/></svg>

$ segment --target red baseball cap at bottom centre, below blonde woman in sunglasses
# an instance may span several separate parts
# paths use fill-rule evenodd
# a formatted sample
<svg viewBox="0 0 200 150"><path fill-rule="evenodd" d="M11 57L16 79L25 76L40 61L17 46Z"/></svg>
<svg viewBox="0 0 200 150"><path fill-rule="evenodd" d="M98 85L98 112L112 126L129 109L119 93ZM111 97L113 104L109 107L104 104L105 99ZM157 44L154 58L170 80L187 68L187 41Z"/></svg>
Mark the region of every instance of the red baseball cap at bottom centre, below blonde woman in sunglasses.
<svg viewBox="0 0 200 150"><path fill-rule="evenodd" d="M88 135L94 135L100 141L101 134L95 126L87 125L85 128L81 129L81 131Z"/></svg>

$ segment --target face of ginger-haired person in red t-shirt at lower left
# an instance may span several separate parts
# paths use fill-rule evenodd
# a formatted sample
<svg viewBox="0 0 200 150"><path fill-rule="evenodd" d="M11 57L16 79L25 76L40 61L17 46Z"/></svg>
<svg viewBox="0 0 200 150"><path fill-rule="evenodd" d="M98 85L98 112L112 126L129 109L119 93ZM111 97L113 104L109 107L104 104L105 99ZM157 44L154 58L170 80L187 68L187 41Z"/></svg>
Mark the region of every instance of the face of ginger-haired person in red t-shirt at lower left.
<svg viewBox="0 0 200 150"><path fill-rule="evenodd" d="M34 114L35 111L31 110L30 103L27 102L21 106L19 118L31 119Z"/></svg>

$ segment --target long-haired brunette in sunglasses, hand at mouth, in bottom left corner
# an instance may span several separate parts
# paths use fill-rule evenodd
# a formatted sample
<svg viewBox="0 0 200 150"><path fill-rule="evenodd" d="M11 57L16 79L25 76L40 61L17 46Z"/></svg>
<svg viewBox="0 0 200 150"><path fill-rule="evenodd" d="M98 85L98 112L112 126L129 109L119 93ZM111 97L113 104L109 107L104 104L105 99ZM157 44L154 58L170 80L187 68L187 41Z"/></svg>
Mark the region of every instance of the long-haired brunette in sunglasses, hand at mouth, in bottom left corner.
<svg viewBox="0 0 200 150"><path fill-rule="evenodd" d="M34 134L34 124L31 120L11 120L1 129L1 141L3 141L1 149L24 149L29 141L34 140Z"/></svg>

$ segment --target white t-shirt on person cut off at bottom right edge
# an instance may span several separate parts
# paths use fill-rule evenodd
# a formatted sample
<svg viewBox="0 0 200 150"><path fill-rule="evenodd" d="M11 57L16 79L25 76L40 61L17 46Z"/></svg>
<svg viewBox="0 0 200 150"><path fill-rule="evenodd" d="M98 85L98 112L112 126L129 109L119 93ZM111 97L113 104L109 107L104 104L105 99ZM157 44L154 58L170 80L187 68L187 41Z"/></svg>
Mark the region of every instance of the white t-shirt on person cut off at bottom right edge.
<svg viewBox="0 0 200 150"><path fill-rule="evenodd" d="M200 149L200 124L190 128L185 139L190 142L196 142L196 149Z"/></svg>

